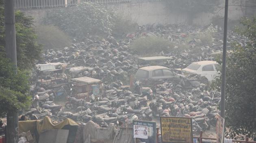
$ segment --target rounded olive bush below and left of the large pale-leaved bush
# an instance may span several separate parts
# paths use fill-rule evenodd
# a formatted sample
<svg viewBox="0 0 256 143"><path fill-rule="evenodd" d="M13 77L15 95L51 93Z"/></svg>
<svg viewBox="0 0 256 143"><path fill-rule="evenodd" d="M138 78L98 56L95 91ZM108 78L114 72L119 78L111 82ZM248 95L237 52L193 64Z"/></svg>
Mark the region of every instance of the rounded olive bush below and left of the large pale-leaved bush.
<svg viewBox="0 0 256 143"><path fill-rule="evenodd" d="M71 45L71 39L58 27L39 25L36 27L37 41L44 48L64 48Z"/></svg>

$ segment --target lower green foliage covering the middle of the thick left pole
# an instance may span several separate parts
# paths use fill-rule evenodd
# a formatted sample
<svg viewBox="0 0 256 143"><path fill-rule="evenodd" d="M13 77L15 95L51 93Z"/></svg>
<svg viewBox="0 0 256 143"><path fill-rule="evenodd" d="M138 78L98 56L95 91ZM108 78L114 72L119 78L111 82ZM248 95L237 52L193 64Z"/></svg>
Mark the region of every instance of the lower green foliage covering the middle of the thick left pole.
<svg viewBox="0 0 256 143"><path fill-rule="evenodd" d="M0 116L7 110L24 109L30 105L30 97L26 95L29 90L28 73L17 69L15 74L14 65L9 59L0 53Z"/></svg>

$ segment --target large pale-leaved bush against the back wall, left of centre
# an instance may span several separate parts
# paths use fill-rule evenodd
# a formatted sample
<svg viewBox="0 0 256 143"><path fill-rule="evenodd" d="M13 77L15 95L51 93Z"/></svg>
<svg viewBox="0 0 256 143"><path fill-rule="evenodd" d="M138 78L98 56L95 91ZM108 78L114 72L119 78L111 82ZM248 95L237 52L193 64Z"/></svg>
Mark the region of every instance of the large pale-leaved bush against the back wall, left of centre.
<svg viewBox="0 0 256 143"><path fill-rule="evenodd" d="M49 11L44 23L58 26L72 37L83 39L112 32L113 13L100 4L83 2L75 7Z"/></svg>

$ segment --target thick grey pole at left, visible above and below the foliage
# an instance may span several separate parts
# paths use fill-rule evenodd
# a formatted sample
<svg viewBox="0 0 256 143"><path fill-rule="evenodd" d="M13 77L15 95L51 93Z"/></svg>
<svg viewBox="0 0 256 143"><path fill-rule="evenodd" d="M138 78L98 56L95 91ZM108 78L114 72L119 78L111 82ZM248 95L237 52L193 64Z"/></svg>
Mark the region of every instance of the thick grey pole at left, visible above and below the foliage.
<svg viewBox="0 0 256 143"><path fill-rule="evenodd" d="M13 72L17 74L17 57L16 57L16 34L15 34L15 15L14 0L4 1L5 14L5 49L7 58L11 59L14 64ZM7 111L7 143L18 143L18 112Z"/></svg>

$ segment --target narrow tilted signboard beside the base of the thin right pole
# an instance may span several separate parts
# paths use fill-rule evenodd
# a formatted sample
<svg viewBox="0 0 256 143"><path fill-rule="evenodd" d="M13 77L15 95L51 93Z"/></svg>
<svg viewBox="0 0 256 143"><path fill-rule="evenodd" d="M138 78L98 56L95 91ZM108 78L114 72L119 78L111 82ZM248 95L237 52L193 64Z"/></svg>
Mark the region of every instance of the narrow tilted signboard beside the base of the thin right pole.
<svg viewBox="0 0 256 143"><path fill-rule="evenodd" d="M224 118L216 115L216 135L217 135L217 143L223 143L223 133L224 133Z"/></svg>

